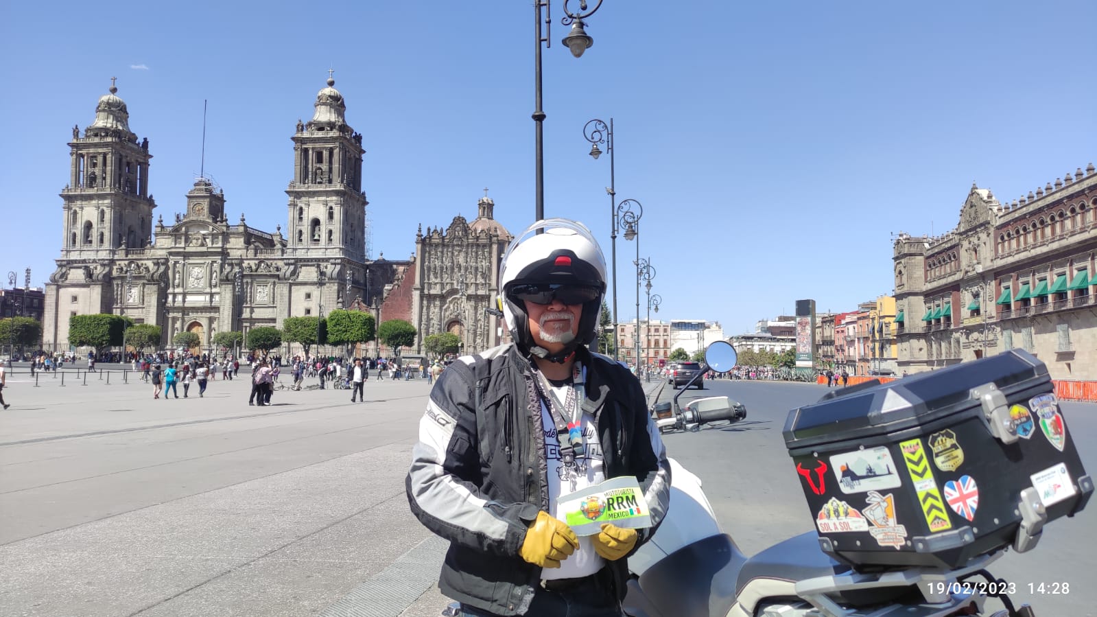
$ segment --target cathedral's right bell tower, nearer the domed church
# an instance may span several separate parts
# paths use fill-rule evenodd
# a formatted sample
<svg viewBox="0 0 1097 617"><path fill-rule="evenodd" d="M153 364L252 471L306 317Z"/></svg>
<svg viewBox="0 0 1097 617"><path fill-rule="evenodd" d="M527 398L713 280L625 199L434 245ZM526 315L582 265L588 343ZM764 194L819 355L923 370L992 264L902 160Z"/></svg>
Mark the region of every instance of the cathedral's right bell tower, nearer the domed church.
<svg viewBox="0 0 1097 617"><path fill-rule="evenodd" d="M297 122L293 136L290 248L297 257L343 258L362 262L365 254L365 193L362 192L362 135L347 124L347 105L336 80L316 94L316 112Z"/></svg>

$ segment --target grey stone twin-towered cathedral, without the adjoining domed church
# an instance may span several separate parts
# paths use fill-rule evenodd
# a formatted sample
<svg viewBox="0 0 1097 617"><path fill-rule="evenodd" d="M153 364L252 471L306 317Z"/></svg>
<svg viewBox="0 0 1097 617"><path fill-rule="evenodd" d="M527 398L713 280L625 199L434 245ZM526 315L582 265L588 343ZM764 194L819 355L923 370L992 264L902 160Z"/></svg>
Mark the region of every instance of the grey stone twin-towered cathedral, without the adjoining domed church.
<svg viewBox="0 0 1097 617"><path fill-rule="evenodd" d="M44 346L67 349L76 314L159 325L165 345L193 332L206 348L217 332L280 326L291 315L369 299L362 135L347 124L333 86L329 78L313 119L297 122L286 229L271 234L250 227L242 214L229 223L224 192L205 178L186 193L184 214L154 220L149 142L129 130L112 83L83 134L72 128L69 183L60 194L64 247L46 287ZM394 278L381 270L371 287Z"/></svg>

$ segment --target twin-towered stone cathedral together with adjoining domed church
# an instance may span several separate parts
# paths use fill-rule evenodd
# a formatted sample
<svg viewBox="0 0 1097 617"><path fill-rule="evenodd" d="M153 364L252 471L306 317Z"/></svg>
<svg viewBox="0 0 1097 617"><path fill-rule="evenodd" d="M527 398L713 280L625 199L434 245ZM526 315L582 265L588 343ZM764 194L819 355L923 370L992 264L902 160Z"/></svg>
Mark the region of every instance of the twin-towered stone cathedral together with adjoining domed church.
<svg viewBox="0 0 1097 617"><path fill-rule="evenodd" d="M256 229L242 213L230 223L224 191L205 178L186 193L185 212L166 222L149 193L149 141L129 130L112 81L95 120L82 136L73 126L68 144L64 246L46 285L44 348L68 350L69 317L79 314L158 325L162 348L192 332L203 351L217 351L218 332L247 335L333 308L370 311L378 324L410 322L418 340L405 352L421 352L423 338L439 332L456 334L465 351L499 344L501 323L485 308L511 235L494 220L494 202L485 194L471 223L459 215L426 234L420 224L408 260L366 259L362 135L347 124L330 77L314 106L292 138L284 232Z"/></svg>

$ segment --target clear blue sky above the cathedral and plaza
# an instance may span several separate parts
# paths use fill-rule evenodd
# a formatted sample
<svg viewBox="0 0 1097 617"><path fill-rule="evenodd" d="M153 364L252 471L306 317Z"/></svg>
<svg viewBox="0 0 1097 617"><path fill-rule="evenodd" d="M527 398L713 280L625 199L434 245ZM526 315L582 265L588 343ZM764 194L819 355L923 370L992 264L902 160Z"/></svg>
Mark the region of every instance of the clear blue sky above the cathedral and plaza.
<svg viewBox="0 0 1097 617"><path fill-rule="evenodd" d="M112 76L166 221L199 173L207 100L205 172L229 221L284 225L291 136L328 68L363 135L373 257L407 259L419 224L472 220L485 187L511 232L533 220L532 1L89 9L2 10L0 270L20 281L54 270L66 144ZM609 160L587 156L583 126L613 117L617 194L643 204L663 318L732 335L798 299L856 308L892 291L892 233L953 227L972 181L1013 200L1097 162L1089 0L606 0L579 59L563 15L553 0L545 212L585 222L610 259ZM618 238L621 321L635 251Z"/></svg>

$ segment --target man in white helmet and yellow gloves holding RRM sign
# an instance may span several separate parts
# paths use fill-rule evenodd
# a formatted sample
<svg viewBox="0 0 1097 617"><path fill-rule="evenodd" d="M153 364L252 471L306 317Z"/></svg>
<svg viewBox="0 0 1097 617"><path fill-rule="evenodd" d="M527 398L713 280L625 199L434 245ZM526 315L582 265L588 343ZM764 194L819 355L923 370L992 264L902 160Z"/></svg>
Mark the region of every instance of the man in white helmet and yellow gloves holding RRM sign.
<svg viewBox="0 0 1097 617"><path fill-rule="evenodd" d="M619 617L625 559L666 514L670 468L640 382L586 347L606 259L583 225L540 221L508 248L499 280L514 343L459 358L434 383L406 481L411 512L450 541L439 586L465 615ZM637 479L653 527L577 537L557 497L618 476Z"/></svg>

